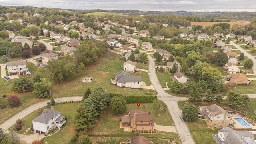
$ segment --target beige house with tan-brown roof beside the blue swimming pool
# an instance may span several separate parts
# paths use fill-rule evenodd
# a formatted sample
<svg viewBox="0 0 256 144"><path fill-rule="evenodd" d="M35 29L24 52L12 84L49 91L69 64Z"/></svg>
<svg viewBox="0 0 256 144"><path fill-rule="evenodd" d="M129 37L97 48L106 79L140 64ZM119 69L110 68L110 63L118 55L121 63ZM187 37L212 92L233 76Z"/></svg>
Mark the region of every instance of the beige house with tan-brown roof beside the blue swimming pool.
<svg viewBox="0 0 256 144"><path fill-rule="evenodd" d="M212 126L226 127L228 124L233 124L233 120L228 112L216 104L199 106L199 113L202 114Z"/></svg>

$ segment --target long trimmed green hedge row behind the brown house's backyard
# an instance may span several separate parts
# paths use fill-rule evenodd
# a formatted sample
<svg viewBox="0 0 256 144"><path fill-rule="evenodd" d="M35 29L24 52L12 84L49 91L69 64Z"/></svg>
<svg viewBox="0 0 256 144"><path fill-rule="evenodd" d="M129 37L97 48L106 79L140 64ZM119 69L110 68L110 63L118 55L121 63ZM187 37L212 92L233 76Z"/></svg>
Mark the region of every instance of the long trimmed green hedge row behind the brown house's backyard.
<svg viewBox="0 0 256 144"><path fill-rule="evenodd" d="M153 100L157 100L157 96L124 96L124 99L126 100L126 103L153 103Z"/></svg>

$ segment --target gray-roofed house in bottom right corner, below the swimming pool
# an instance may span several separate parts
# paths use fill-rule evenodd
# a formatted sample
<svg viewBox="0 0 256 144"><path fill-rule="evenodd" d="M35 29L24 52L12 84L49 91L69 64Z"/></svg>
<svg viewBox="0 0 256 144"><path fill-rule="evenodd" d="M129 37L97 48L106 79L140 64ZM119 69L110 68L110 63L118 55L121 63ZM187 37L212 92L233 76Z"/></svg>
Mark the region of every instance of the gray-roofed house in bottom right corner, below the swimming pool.
<svg viewBox="0 0 256 144"><path fill-rule="evenodd" d="M256 144L255 136L250 131L237 131L226 127L218 130L222 144Z"/></svg>

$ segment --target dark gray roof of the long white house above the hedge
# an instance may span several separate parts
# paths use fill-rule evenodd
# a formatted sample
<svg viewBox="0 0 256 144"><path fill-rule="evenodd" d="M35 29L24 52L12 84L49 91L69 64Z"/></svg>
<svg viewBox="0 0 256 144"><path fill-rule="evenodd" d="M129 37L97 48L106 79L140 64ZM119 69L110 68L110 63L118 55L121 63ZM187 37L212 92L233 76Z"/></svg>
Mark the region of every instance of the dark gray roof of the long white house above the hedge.
<svg viewBox="0 0 256 144"><path fill-rule="evenodd" d="M118 72L116 73L116 82L141 82L141 76L130 76L131 74L128 72Z"/></svg>

